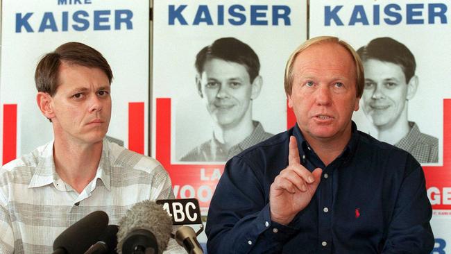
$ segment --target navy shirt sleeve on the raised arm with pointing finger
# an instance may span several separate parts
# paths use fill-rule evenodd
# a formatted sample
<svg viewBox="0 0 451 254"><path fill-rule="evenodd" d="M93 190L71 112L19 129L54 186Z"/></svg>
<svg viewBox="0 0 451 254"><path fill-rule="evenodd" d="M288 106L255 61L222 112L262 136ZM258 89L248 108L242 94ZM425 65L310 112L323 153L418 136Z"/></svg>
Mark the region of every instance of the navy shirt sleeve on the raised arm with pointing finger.
<svg viewBox="0 0 451 254"><path fill-rule="evenodd" d="M262 170L239 157L228 161L208 211L209 253L281 253L298 232L271 221L269 193L263 185Z"/></svg>

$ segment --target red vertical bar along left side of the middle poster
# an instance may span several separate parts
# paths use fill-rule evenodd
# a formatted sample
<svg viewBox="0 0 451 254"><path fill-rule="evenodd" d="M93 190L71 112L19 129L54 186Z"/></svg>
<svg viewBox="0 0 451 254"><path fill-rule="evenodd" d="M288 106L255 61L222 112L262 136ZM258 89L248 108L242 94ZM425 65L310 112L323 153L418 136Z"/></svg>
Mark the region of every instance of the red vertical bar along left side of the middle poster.
<svg viewBox="0 0 451 254"><path fill-rule="evenodd" d="M156 155L167 170L171 168L171 99L157 99Z"/></svg>

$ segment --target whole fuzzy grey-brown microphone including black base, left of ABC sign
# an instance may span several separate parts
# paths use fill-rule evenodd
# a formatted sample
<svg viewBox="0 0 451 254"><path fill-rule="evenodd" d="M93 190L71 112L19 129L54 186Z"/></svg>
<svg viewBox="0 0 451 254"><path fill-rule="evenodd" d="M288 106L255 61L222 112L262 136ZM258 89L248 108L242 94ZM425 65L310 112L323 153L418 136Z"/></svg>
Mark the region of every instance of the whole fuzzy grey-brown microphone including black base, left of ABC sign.
<svg viewBox="0 0 451 254"><path fill-rule="evenodd" d="M167 248L171 232L172 221L167 212L153 201L141 201L119 221L117 251L161 254Z"/></svg>

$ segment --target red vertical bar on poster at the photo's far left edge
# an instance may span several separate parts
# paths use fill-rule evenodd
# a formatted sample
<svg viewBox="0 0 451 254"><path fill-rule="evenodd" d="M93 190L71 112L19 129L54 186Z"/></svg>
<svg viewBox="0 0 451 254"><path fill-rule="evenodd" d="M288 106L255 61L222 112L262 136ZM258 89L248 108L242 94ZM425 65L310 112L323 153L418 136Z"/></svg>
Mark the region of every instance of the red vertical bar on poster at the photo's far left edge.
<svg viewBox="0 0 451 254"><path fill-rule="evenodd" d="M5 104L3 105L3 164L16 158L16 149L17 104Z"/></svg>

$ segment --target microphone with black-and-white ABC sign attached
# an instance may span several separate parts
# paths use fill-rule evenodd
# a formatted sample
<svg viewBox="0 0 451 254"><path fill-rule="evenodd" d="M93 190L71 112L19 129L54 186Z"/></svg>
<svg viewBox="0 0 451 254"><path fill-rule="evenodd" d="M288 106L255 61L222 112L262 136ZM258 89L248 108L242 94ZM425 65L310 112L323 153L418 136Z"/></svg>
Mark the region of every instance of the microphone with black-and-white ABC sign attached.
<svg viewBox="0 0 451 254"><path fill-rule="evenodd" d="M163 205L164 210L171 215L174 225L201 224L201 229L197 233L194 232L192 227L181 226L176 231L176 235L173 235L173 238L189 254L203 254L201 244L199 244L196 238L203 231L201 209L197 199L160 199L157 203Z"/></svg>

